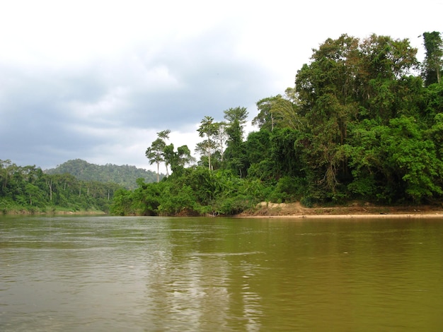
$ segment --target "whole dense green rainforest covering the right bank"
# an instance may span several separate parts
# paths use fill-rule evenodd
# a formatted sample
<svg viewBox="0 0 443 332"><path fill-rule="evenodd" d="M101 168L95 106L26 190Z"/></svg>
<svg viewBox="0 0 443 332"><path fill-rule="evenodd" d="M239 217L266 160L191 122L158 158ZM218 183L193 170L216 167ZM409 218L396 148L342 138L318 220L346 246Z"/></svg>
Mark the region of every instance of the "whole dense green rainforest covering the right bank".
<svg viewBox="0 0 443 332"><path fill-rule="evenodd" d="M284 94L203 117L197 164L159 132L146 150L171 174L115 192L117 215L232 215L260 201L305 206L437 203L443 196L443 64L439 32L409 40L341 35L313 49Z"/></svg>

